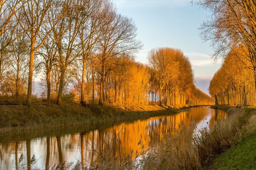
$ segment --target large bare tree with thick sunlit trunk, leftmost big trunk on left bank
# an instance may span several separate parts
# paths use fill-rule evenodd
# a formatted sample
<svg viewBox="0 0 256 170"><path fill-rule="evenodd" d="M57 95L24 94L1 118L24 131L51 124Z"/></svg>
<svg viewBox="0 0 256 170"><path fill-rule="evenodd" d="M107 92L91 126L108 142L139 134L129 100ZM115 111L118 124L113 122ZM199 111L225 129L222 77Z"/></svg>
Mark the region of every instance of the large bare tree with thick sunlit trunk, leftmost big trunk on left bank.
<svg viewBox="0 0 256 170"><path fill-rule="evenodd" d="M33 77L33 64L34 54L43 45L44 40L54 28L45 30L42 26L50 21L46 17L49 8L53 5L53 0L21 0L23 6L21 8L19 25L23 30L27 30L26 34L30 40L30 57L29 57L29 79L28 79L28 92L27 92L27 105L31 105L32 96L32 77ZM56 17L56 18L59 18ZM39 37L38 35L41 34Z"/></svg>

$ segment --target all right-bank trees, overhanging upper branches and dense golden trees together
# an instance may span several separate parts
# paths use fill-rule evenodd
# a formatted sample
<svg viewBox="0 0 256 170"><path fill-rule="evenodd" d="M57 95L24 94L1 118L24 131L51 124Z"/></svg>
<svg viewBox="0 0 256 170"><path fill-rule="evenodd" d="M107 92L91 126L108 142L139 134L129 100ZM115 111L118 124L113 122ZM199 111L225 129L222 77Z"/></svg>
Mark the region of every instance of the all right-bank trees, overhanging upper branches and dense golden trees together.
<svg viewBox="0 0 256 170"><path fill-rule="evenodd" d="M202 39L211 40L215 59L226 57L212 79L211 95L218 104L256 105L255 0L195 2L211 13L201 26Z"/></svg>

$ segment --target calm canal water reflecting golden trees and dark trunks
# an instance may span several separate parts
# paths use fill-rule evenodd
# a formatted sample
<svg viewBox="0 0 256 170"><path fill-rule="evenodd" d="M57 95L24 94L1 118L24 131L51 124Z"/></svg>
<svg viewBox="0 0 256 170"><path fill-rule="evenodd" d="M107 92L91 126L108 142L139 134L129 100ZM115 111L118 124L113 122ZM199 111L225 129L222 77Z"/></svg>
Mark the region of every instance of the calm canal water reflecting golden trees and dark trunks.
<svg viewBox="0 0 256 170"><path fill-rule="evenodd" d="M84 127L58 130L38 130L20 135L9 134L0 139L0 170L51 169L59 162L84 166L99 156L133 153L149 147L152 139L159 139L168 130L177 130L182 123L189 126L191 118L197 128L212 127L227 114L211 108L190 108L171 116L151 117L133 123L88 130ZM117 148L121 148L120 150ZM28 161L35 162L28 166ZM83 166L83 168L84 168Z"/></svg>

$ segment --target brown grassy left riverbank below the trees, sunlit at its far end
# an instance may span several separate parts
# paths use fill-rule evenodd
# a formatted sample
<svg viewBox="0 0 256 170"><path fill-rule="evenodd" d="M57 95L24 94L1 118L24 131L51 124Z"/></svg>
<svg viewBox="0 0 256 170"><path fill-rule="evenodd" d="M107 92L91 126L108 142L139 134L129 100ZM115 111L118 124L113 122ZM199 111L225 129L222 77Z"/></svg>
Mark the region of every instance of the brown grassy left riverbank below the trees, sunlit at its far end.
<svg viewBox="0 0 256 170"><path fill-rule="evenodd" d="M147 119L186 111L187 107L114 106L114 105L0 105L0 133L38 128L68 127L86 124L91 128L101 124L115 125L123 121Z"/></svg>

